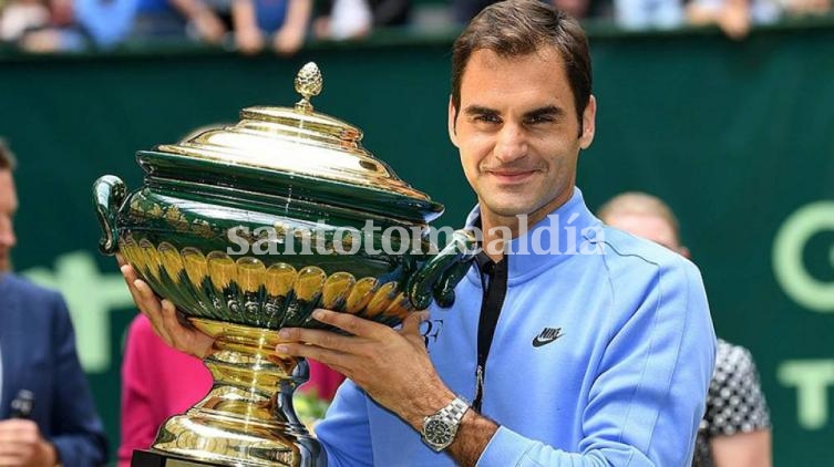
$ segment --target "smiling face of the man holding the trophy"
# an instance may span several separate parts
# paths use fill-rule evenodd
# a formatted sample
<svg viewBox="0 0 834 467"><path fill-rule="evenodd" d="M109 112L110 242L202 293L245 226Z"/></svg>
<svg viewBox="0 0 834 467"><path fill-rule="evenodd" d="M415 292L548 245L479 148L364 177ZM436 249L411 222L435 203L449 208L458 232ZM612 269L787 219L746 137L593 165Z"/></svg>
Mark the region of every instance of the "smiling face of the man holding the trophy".
<svg viewBox="0 0 834 467"><path fill-rule="evenodd" d="M461 108L449 106L449 132L484 222L529 225L567 201L579 149L594 139L596 102L583 115L583 134L558 51L502 58L475 51L461 80Z"/></svg>

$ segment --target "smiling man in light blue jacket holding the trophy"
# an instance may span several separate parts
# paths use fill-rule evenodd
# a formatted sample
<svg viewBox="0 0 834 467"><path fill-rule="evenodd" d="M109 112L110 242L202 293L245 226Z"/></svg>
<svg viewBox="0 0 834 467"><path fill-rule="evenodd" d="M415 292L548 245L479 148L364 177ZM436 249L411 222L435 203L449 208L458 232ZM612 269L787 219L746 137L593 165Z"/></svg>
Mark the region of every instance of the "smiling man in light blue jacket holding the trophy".
<svg viewBox="0 0 834 467"><path fill-rule="evenodd" d="M317 310L349 335L281 331L279 354L351 380L317 428L329 465L689 464L714 362L703 286L680 256L605 228L575 187L597 108L585 33L539 1L493 4L455 41L452 87L485 252L454 305L429 310L436 339L426 349L421 313L393 330ZM209 351L123 273L167 342Z"/></svg>

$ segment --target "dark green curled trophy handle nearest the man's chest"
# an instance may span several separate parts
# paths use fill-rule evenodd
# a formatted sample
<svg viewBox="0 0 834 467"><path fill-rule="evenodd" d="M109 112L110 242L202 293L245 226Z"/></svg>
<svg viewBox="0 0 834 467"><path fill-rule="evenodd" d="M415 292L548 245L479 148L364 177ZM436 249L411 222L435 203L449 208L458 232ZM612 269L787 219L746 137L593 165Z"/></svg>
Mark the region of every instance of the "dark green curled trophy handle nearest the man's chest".
<svg viewBox="0 0 834 467"><path fill-rule="evenodd" d="M406 290L411 304L416 310L426 309L433 295L439 305L451 307L454 288L470 269L476 245L472 230L455 230L449 245L409 278Z"/></svg>

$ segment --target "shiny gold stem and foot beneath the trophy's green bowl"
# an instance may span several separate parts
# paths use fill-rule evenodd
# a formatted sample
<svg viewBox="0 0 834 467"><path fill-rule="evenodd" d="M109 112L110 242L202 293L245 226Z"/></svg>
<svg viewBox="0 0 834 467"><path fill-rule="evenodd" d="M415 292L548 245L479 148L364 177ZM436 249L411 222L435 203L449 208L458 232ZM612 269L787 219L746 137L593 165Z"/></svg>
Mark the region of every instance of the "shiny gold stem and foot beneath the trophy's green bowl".
<svg viewBox="0 0 834 467"><path fill-rule="evenodd" d="M215 352L204 360L214 385L185 414L168 418L153 449L222 465L315 466L321 448L292 407L307 362L277 356L275 330L192 323L215 338Z"/></svg>

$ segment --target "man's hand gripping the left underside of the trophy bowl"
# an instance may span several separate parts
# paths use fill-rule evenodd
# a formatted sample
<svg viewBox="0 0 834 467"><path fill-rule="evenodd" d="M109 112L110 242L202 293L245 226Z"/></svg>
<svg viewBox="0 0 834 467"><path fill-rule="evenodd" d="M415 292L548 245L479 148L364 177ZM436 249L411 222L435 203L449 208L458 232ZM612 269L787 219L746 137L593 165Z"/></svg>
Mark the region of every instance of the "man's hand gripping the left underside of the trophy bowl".
<svg viewBox="0 0 834 467"><path fill-rule="evenodd" d="M177 310L174 303L168 300L159 300L151 290L151 287L138 278L131 264L127 264L120 256L116 256L116 258L122 276L127 282L127 289L133 295L133 301L136 302L140 311L151 320L154 332L174 349L200 359L208 356L213 352L214 339L194 328L184 326L177 320Z"/></svg>

